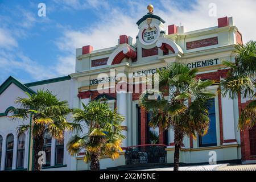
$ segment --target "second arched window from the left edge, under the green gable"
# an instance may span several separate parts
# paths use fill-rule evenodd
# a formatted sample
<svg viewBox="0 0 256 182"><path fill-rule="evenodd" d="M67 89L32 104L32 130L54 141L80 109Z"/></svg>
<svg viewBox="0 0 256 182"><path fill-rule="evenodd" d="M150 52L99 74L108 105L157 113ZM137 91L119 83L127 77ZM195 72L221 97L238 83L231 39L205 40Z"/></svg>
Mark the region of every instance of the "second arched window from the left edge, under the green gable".
<svg viewBox="0 0 256 182"><path fill-rule="evenodd" d="M6 139L6 155L5 155L5 169L11 169L13 166L13 144L14 137L13 134L7 135Z"/></svg>

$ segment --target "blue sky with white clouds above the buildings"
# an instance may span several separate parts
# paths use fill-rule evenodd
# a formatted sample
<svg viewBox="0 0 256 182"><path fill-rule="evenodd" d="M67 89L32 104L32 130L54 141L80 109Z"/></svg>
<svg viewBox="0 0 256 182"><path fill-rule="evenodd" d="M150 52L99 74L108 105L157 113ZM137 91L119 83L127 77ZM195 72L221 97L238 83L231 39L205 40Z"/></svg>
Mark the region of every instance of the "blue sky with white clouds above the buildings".
<svg viewBox="0 0 256 182"><path fill-rule="evenodd" d="M38 4L46 4L46 17ZM119 35L134 39L136 22L154 5L154 14L187 31L217 26L217 18L233 16L243 42L256 40L255 0L0 0L0 84L9 76L23 83L75 72L75 49L113 47ZM209 16L209 5L216 16Z"/></svg>

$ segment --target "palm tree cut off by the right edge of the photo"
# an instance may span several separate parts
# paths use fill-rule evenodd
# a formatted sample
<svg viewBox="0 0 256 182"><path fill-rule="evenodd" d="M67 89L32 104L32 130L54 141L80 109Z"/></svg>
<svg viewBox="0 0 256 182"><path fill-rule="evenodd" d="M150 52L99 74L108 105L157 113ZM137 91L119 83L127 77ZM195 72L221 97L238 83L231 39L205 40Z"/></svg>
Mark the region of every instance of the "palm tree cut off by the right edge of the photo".
<svg viewBox="0 0 256 182"><path fill-rule="evenodd" d="M250 41L245 45L235 46L235 63L223 61L222 64L229 68L227 76L220 83L223 96L229 94L229 98L242 96L251 100L245 109L241 110L239 127L251 128L256 123L256 42Z"/></svg>

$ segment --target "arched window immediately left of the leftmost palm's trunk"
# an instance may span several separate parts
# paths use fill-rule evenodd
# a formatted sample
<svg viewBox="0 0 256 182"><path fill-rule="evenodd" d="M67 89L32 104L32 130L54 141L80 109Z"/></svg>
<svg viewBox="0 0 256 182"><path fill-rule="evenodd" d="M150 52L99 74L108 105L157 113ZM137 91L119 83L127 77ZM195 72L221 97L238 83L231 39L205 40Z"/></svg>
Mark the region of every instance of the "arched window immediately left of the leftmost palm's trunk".
<svg viewBox="0 0 256 182"><path fill-rule="evenodd" d="M18 137L18 151L17 151L17 168L24 168L25 156L25 134L20 134Z"/></svg>

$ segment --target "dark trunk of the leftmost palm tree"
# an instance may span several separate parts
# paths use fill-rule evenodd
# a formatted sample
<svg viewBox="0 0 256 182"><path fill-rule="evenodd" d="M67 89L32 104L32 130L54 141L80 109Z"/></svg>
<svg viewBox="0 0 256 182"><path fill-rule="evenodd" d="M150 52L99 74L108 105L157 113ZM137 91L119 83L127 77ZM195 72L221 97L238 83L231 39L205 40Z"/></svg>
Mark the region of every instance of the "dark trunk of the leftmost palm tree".
<svg viewBox="0 0 256 182"><path fill-rule="evenodd" d="M40 156L39 151L43 150L43 146L44 146L44 135L38 135L36 137L34 137L34 170L35 171L41 171L42 169L42 164L39 163L39 158Z"/></svg>

